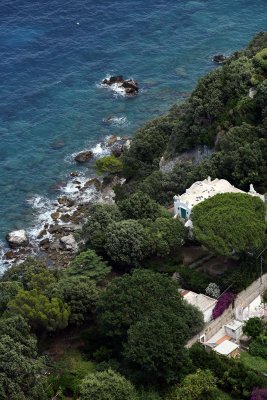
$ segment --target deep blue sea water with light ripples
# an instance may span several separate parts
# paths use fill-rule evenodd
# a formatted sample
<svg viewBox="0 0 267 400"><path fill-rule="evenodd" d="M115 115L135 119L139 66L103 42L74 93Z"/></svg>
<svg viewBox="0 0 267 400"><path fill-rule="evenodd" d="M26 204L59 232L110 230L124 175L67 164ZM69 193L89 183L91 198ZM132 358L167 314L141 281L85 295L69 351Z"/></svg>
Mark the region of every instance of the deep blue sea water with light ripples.
<svg viewBox="0 0 267 400"><path fill-rule="evenodd" d="M70 155L166 112L267 28L266 0L1 0L0 239L30 226L27 200L55 197L77 169ZM98 83L139 82L135 98ZM106 125L103 119L124 118Z"/></svg>

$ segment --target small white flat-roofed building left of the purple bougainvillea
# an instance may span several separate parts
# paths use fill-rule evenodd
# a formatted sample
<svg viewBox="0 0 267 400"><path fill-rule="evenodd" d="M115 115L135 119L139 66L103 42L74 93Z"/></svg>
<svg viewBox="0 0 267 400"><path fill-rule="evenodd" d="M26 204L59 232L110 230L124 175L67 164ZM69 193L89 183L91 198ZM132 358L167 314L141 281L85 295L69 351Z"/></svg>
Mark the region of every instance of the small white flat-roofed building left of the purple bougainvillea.
<svg viewBox="0 0 267 400"><path fill-rule="evenodd" d="M191 292L190 290L180 290L181 296L192 306L197 307L203 314L204 322L209 322L212 317L217 300L205 294Z"/></svg>

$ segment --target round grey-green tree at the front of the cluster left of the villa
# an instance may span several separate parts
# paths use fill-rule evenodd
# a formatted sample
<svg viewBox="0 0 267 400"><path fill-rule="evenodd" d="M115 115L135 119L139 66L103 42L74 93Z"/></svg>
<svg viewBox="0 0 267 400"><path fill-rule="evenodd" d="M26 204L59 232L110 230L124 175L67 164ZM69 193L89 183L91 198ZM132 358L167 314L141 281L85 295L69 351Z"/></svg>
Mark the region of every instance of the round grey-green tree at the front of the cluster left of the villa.
<svg viewBox="0 0 267 400"><path fill-rule="evenodd" d="M126 220L107 227L105 250L112 261L134 267L151 252L151 243L138 221Z"/></svg>

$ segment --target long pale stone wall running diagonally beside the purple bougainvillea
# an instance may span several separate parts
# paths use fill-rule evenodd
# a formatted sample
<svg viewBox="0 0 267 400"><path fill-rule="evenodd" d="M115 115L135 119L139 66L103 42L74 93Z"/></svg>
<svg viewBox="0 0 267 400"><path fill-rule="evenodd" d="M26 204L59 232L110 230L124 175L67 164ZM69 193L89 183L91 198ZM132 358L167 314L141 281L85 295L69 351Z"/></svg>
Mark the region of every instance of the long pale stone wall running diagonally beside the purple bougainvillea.
<svg viewBox="0 0 267 400"><path fill-rule="evenodd" d="M260 279L254 281L247 289L240 292L234 302L234 307L231 304L224 313L216 318L214 321L206 324L205 328L190 339L186 347L191 347L194 343L198 342L200 337L205 335L205 341L209 340L215 335L224 325L228 324L231 319L235 318L235 309L238 306L247 307L253 300L256 299L267 289L267 274L262 276L262 283Z"/></svg>

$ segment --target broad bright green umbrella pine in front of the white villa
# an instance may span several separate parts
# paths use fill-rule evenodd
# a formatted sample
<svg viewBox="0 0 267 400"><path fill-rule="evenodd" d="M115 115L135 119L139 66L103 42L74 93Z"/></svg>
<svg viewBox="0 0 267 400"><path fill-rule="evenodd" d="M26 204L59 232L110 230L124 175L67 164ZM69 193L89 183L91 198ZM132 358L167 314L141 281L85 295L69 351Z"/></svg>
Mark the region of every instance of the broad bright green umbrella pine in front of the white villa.
<svg viewBox="0 0 267 400"><path fill-rule="evenodd" d="M208 249L228 257L255 251L265 233L265 205L243 193L217 194L192 210L193 233Z"/></svg>

